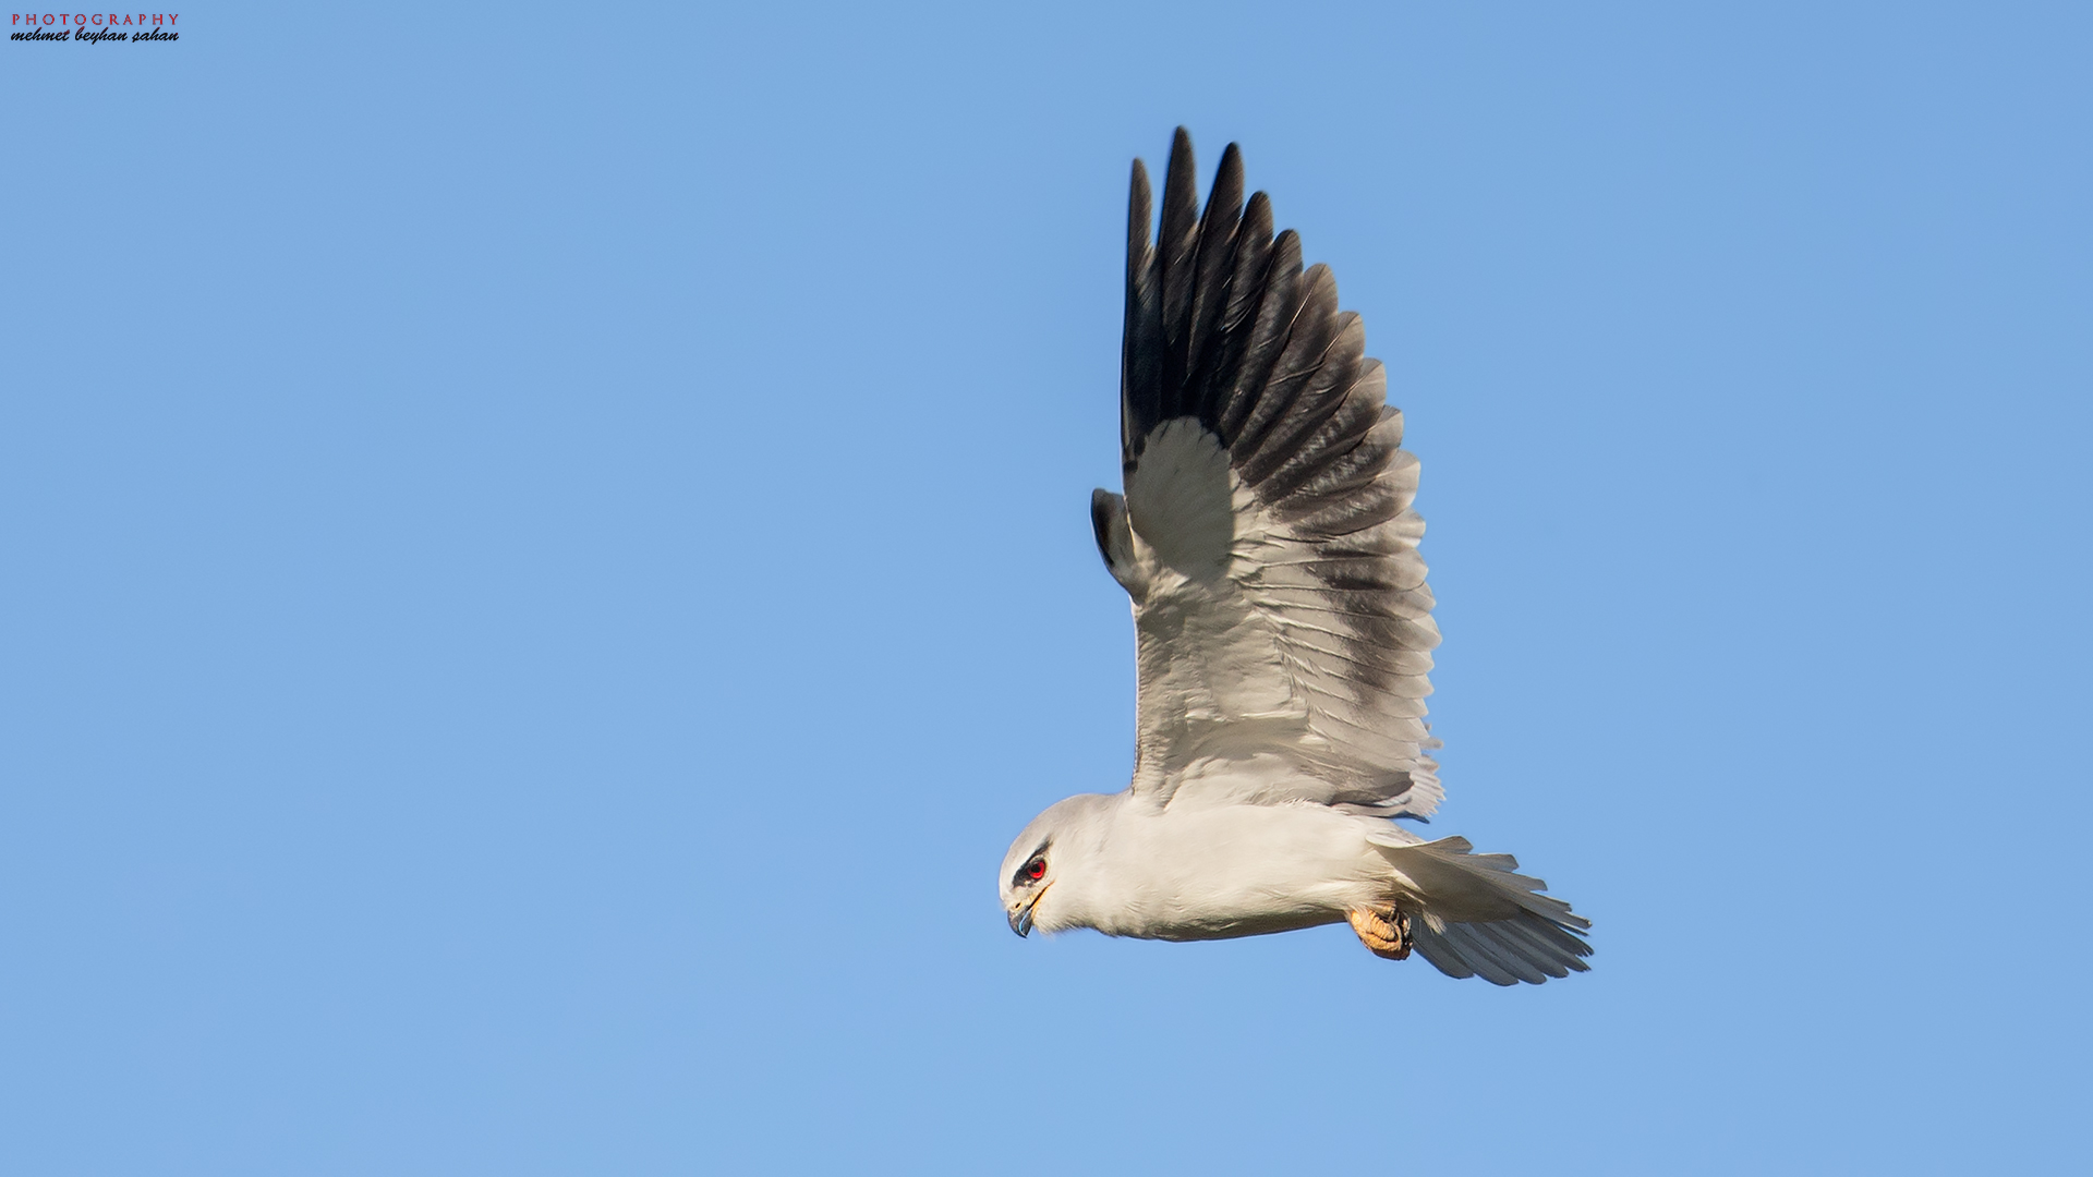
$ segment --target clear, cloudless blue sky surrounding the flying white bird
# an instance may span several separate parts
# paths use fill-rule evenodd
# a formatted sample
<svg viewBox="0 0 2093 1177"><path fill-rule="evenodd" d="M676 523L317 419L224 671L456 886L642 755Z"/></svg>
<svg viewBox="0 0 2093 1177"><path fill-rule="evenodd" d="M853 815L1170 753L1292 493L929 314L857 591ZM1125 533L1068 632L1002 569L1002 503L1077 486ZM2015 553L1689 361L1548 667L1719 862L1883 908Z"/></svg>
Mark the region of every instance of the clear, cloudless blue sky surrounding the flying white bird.
<svg viewBox="0 0 2093 1177"><path fill-rule="evenodd" d="M0 44L0 1169L2083 1162L2093 17L1482 8ZM1365 314L1432 829L1591 976L1005 928L1130 767L1176 124Z"/></svg>

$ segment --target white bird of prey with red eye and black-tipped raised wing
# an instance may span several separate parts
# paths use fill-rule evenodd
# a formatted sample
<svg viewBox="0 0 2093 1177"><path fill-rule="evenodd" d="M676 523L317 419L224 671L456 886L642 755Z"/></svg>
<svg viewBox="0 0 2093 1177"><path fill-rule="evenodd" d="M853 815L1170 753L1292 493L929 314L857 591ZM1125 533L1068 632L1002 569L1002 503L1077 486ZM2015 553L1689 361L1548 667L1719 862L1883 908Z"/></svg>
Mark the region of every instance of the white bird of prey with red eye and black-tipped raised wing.
<svg viewBox="0 0 2093 1177"><path fill-rule="evenodd" d="M1220 940L1346 921L1379 957L1540 984L1591 921L1509 854L1427 842L1432 591L1417 459L1327 266L1243 203L1235 145L1199 212L1178 128L1149 241L1126 216L1120 463L1090 494L1134 605L1134 777L1032 819L1003 859L1011 930Z"/></svg>

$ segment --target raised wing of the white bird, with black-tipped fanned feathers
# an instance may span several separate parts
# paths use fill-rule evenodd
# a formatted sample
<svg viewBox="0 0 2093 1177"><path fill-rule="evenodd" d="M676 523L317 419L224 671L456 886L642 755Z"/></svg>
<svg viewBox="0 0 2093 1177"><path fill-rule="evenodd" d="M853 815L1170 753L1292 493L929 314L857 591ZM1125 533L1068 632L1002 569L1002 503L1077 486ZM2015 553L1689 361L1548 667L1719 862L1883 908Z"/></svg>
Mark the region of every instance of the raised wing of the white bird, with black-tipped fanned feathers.
<svg viewBox="0 0 2093 1177"><path fill-rule="evenodd" d="M1201 216L1176 132L1153 245L1134 161L1120 413L1126 496L1090 517L1134 599L1134 790L1430 815L1417 459L1329 268L1243 205L1235 145Z"/></svg>

